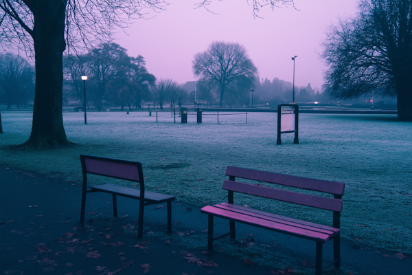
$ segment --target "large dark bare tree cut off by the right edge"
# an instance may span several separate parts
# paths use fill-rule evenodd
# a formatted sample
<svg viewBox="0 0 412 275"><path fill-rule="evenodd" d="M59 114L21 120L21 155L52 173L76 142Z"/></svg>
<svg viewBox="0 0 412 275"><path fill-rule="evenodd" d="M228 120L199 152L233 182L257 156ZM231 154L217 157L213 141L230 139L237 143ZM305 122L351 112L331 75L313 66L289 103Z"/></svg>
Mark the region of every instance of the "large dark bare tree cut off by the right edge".
<svg viewBox="0 0 412 275"><path fill-rule="evenodd" d="M332 97L397 96L398 119L412 121L411 0L360 1L355 18L330 26L323 47Z"/></svg>

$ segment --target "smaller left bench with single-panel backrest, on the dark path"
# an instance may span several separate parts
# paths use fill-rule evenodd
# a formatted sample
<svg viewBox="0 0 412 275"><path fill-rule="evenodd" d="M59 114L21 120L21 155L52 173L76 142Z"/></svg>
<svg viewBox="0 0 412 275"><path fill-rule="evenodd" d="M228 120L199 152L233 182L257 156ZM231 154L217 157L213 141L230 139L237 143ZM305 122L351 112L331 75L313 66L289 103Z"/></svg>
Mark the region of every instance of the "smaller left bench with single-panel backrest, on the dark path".
<svg viewBox="0 0 412 275"><path fill-rule="evenodd" d="M157 203L168 203L168 232L172 231L172 201L175 197L157 192L145 191L143 169L139 162L132 162L123 159L111 159L107 157L96 157L93 155L80 155L83 172L82 186L82 209L80 222L84 223L84 211L86 205L86 194L89 192L107 192L113 196L113 215L117 217L117 196L139 199L139 228L137 237L143 234L144 206ZM87 174L102 175L115 179L139 182L140 190L117 184L102 184L91 186L87 190Z"/></svg>

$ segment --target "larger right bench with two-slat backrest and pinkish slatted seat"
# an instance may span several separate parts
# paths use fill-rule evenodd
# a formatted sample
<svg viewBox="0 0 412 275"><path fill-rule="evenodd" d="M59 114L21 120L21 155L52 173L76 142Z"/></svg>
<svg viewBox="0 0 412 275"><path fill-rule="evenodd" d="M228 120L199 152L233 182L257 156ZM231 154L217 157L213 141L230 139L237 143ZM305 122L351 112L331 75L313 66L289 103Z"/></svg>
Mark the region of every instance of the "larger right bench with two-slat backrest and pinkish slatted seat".
<svg viewBox="0 0 412 275"><path fill-rule="evenodd" d="M233 166L227 166L226 175L229 176L229 180L225 180L222 188L229 191L228 203L220 203L214 206L205 206L201 209L202 213L209 215L207 249L210 252L212 250L212 243L214 240L219 239L222 236L230 236L231 239L235 239L235 222L240 222L248 225L254 225L259 228L265 228L268 230L273 230L275 232L281 232L284 234L316 241L316 275L321 274L323 271L323 243L326 243L330 239L333 239L334 262L331 265L334 265L335 268L340 268L341 256L339 224L342 209L341 198L345 184L341 182L308 179L305 177L295 177ZM301 192L292 192L288 190L280 190L277 188L262 186L261 184L244 184L242 182L235 181L236 177L240 177L242 179L251 179L254 181L263 181L270 184L280 184L282 186L290 186L306 190L329 193L333 195L333 198L308 195ZM304 206L321 208L324 210L332 210L333 227L308 221L301 221L299 219L293 219L290 217L284 217L278 214L255 210L245 206L238 206L236 204L233 204L233 192L240 192L268 199L297 203ZM218 236L216 238L213 237L213 218L215 216L223 219L229 219L229 233L223 234L222 236ZM327 268L328 267L326 267L325 269Z"/></svg>

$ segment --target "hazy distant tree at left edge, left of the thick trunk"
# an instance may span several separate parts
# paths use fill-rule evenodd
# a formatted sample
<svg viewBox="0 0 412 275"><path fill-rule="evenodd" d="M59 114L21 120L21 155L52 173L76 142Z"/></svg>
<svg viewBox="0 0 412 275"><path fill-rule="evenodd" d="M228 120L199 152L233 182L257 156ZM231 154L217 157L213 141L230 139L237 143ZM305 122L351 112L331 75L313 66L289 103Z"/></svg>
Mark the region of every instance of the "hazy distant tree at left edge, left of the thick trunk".
<svg viewBox="0 0 412 275"><path fill-rule="evenodd" d="M14 54L0 56L0 102L25 106L34 97L34 69L24 58Z"/></svg>

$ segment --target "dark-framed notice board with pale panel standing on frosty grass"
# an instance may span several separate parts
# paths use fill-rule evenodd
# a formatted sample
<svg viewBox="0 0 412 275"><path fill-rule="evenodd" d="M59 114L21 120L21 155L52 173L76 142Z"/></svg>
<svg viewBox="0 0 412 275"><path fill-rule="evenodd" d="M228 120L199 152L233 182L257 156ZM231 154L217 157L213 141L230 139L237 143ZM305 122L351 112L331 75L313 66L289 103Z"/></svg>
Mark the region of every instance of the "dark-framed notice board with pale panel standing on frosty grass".
<svg viewBox="0 0 412 275"><path fill-rule="evenodd" d="M280 134L295 133L294 144L299 144L299 106L297 104L277 105L277 145L282 144Z"/></svg>

